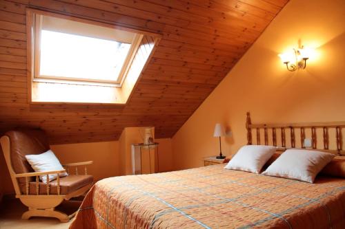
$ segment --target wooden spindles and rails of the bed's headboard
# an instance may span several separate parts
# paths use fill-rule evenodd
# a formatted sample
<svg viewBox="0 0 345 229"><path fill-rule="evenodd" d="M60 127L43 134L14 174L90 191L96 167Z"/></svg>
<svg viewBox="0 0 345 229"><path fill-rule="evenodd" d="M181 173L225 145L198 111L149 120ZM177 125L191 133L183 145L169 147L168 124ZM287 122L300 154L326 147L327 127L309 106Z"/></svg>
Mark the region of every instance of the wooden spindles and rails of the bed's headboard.
<svg viewBox="0 0 345 229"><path fill-rule="evenodd" d="M336 155L345 155L342 142L342 129L345 127L345 122L305 122L305 123L290 123L290 124L252 124L250 113L247 112L246 129L247 129L247 144L253 144L253 133L256 131L256 144L261 144L260 130L264 130L264 144L268 145L268 131L272 135L272 144L277 147L277 151L285 151L286 149L317 149L327 153L334 153ZM286 131L288 129L288 131ZM306 129L311 129L311 148L306 148L304 140L306 139ZM317 148L317 129L322 129L323 148ZM329 129L335 129L334 139L336 149L330 149L328 135ZM280 131L281 144L277 143L277 130ZM299 130L300 143L297 146L296 132ZM290 146L287 144L286 132L290 133Z"/></svg>

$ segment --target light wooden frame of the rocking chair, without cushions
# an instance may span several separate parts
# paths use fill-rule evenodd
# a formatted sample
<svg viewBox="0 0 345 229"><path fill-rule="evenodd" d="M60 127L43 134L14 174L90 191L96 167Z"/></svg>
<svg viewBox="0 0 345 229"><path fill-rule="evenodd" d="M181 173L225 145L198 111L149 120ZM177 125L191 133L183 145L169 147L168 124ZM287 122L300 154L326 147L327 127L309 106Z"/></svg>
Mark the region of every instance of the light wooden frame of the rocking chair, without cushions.
<svg viewBox="0 0 345 229"><path fill-rule="evenodd" d="M60 194L60 178L59 173L63 173L65 171L69 171L71 166L75 166L75 174L78 174L77 166L86 166L92 164L93 162L78 162L78 163L71 163L63 165L66 170L61 171L45 171L39 173L21 173L17 174L14 172L12 168L12 162L10 157L10 138L8 136L3 136L0 138L1 147L3 150L3 155L6 160L6 164L8 166L8 170L10 172L10 176L12 179L12 183L14 186L14 190L16 193L16 198L19 198L21 202L28 207L28 211L24 212L22 215L22 219L30 219L30 217L55 217L59 219L61 222L68 222L72 217L75 216L76 212L72 213L71 215L66 215L64 212L60 212L55 210L56 206L59 206L63 200L68 200L72 197L78 197L84 195L88 192L91 188L92 184L88 184L75 190L72 193L68 193L67 195ZM85 167L84 173L87 174L87 169ZM50 181L48 175L57 174L57 195L50 195ZM39 175L47 175L47 194L39 195ZM18 178L25 177L26 178L26 194L21 193L21 189L19 188ZM29 177L36 177L36 193L37 195L30 195L29 193Z"/></svg>

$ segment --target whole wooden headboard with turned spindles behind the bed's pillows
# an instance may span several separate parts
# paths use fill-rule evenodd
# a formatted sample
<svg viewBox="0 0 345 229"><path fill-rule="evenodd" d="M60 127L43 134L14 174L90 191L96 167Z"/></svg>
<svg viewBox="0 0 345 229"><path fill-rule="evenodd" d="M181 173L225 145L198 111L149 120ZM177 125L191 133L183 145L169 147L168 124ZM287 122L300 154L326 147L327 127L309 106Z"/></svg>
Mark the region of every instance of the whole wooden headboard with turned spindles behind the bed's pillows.
<svg viewBox="0 0 345 229"><path fill-rule="evenodd" d="M337 155L345 155L342 137L342 128L344 127L345 122L253 124L250 119L250 113L247 112L247 144L263 143L265 145L273 145L277 146L277 149L281 151L286 149L317 149ZM256 132L255 142L253 142L253 131ZM262 135L264 135L263 141ZM320 138L321 135L322 138ZM304 145L306 138L311 139L311 147L306 148ZM319 139L322 139L322 141L319 142Z"/></svg>

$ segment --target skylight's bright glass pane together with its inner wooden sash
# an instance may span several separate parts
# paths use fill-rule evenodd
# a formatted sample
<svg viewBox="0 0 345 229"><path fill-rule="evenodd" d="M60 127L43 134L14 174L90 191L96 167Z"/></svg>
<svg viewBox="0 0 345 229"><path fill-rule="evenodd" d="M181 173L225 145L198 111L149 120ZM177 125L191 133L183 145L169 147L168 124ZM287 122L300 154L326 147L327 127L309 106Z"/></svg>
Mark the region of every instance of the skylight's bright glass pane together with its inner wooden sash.
<svg viewBox="0 0 345 229"><path fill-rule="evenodd" d="M37 14L34 80L121 86L141 36Z"/></svg>

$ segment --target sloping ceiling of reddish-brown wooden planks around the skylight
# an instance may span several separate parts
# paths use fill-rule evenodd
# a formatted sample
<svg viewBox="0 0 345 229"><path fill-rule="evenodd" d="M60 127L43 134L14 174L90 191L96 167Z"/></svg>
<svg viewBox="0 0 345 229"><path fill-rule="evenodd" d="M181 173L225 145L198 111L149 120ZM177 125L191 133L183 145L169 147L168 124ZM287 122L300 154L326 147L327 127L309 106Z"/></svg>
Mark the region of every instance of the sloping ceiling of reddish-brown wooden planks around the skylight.
<svg viewBox="0 0 345 229"><path fill-rule="evenodd" d="M288 0L0 1L0 132L41 127L52 144L117 140L124 127L170 138ZM119 105L29 105L26 7L162 34L132 98Z"/></svg>

